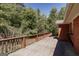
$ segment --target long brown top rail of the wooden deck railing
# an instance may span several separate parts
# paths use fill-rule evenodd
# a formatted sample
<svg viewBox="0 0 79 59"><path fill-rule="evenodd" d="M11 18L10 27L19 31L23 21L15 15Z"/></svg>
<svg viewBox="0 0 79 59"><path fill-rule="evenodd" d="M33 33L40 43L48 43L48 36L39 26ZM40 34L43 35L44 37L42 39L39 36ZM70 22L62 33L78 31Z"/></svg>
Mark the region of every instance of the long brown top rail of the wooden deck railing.
<svg viewBox="0 0 79 59"><path fill-rule="evenodd" d="M19 36L19 37L3 38L3 39L0 39L0 41L13 40L13 39L21 39L21 38L35 38L37 36L42 36L42 35L45 35L45 34L51 34L51 33L47 32L47 33L40 33L40 34L36 34L36 35L31 35L31 36L23 35L23 36Z"/></svg>

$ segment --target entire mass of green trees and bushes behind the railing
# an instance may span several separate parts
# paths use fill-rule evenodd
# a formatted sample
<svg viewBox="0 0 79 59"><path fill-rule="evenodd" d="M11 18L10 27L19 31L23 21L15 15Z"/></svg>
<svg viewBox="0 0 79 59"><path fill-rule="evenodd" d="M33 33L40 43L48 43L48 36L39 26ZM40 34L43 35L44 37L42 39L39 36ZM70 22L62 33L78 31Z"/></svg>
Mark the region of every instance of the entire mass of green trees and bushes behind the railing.
<svg viewBox="0 0 79 59"><path fill-rule="evenodd" d="M40 9L27 8L21 3L2 3L0 4L0 34L19 36L52 32L53 35L56 35L57 25L55 21L63 18L63 9L58 14L57 9L52 8L47 18Z"/></svg>

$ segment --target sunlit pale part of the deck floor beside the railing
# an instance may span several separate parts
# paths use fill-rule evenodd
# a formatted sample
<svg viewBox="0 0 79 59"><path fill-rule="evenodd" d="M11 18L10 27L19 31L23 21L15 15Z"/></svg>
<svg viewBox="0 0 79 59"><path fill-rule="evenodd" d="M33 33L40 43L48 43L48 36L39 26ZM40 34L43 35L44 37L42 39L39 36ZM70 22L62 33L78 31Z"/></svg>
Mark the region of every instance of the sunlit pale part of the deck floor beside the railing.
<svg viewBox="0 0 79 59"><path fill-rule="evenodd" d="M46 37L26 48L9 54L9 56L52 56L57 44L53 37Z"/></svg>

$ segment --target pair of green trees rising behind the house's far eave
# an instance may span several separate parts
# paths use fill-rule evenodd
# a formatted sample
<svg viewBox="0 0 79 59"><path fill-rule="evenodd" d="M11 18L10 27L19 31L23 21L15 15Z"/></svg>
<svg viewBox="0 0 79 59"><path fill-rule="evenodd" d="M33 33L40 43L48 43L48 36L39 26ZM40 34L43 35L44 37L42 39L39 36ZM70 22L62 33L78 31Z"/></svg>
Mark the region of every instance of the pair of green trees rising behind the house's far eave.
<svg viewBox="0 0 79 59"><path fill-rule="evenodd" d="M52 32L53 35L57 35L57 25L56 25L56 20L62 20L64 19L64 14L65 14L65 7L62 7L59 12L57 12L57 9L54 7L51 9L49 17L47 19L47 24L48 24L48 31Z"/></svg>

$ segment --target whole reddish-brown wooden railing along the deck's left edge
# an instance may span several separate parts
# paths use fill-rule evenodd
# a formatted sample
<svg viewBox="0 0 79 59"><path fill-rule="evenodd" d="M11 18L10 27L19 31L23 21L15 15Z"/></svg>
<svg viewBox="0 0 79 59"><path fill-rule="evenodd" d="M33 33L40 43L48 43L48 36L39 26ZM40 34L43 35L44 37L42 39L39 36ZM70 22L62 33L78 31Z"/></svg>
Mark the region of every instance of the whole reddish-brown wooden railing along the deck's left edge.
<svg viewBox="0 0 79 59"><path fill-rule="evenodd" d="M38 39L42 39L44 37L50 36L51 33L38 34L34 36L21 36L21 37L13 37L6 38L0 40L0 55L8 55L18 49L26 47L26 40L29 38L35 38L35 41L39 41ZM42 38L40 38L42 37Z"/></svg>

